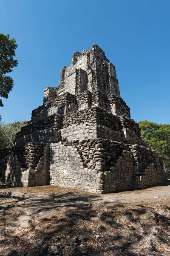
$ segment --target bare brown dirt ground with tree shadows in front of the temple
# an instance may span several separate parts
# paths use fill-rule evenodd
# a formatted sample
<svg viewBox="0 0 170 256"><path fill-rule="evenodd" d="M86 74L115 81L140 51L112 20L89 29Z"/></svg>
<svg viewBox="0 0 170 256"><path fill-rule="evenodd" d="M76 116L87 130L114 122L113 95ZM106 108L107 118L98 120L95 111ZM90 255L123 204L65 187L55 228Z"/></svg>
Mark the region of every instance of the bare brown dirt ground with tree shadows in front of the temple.
<svg viewBox="0 0 170 256"><path fill-rule="evenodd" d="M0 255L170 256L170 185L91 194L0 187Z"/></svg>

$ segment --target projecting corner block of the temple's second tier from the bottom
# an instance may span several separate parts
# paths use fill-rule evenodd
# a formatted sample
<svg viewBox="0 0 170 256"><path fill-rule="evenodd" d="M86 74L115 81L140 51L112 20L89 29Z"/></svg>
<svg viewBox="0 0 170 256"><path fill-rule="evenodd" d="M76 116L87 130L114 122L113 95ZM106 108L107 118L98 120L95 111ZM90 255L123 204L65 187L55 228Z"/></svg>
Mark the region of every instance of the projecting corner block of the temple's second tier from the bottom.
<svg viewBox="0 0 170 256"><path fill-rule="evenodd" d="M61 129L62 140L101 137L122 141L121 134L119 117L98 107L67 113Z"/></svg>

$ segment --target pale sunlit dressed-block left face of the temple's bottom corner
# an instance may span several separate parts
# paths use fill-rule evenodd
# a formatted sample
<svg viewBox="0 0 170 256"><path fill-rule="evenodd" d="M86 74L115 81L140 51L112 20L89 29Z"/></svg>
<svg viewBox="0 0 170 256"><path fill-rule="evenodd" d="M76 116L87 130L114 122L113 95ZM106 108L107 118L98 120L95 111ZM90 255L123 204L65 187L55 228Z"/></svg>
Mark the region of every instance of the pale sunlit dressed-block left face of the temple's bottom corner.
<svg viewBox="0 0 170 256"><path fill-rule="evenodd" d="M99 191L97 171L84 166L77 148L62 143L50 144L50 184Z"/></svg>

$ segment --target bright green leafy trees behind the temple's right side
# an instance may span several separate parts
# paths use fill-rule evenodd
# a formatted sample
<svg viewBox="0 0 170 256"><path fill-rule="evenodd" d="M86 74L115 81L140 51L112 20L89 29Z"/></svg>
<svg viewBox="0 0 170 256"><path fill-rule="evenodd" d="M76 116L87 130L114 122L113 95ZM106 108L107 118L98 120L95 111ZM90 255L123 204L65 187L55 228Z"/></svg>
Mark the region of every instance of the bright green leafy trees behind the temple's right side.
<svg viewBox="0 0 170 256"><path fill-rule="evenodd" d="M142 139L154 149L163 160L170 177L170 125L162 125L147 120L139 122Z"/></svg>

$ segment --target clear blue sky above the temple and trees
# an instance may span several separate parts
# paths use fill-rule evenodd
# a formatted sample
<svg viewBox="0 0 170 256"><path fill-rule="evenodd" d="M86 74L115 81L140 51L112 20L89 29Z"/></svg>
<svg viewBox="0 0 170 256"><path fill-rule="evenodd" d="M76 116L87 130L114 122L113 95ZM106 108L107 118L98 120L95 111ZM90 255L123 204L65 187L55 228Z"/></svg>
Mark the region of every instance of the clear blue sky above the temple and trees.
<svg viewBox="0 0 170 256"><path fill-rule="evenodd" d="M0 0L0 33L17 40L14 88L0 115L30 120L75 51L101 47L136 122L170 123L169 0Z"/></svg>

